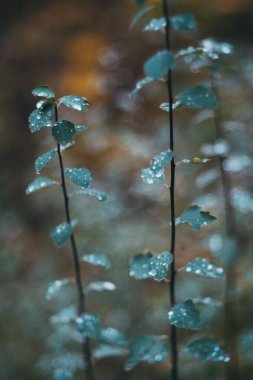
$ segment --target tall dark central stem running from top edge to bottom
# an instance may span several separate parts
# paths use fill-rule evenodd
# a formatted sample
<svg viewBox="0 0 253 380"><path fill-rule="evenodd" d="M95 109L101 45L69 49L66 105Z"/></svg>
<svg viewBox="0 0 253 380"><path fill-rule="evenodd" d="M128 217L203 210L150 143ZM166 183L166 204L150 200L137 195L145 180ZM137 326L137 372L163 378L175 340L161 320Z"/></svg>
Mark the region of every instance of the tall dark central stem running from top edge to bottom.
<svg viewBox="0 0 253 380"><path fill-rule="evenodd" d="M170 51L170 19L169 19L169 4L168 0L163 0L163 14L166 20L165 26L165 44L166 49ZM169 99L169 128L170 128L170 150L174 153L174 124L173 124L173 86L172 86L172 70L169 69L167 77L167 90ZM170 224L171 224L171 243L170 252L173 255L170 272L170 304L175 305L175 244L176 244L176 222L175 222L175 160L174 156L170 163ZM177 352L177 329L174 325L171 326L170 335L171 345L171 380L178 379L178 352Z"/></svg>

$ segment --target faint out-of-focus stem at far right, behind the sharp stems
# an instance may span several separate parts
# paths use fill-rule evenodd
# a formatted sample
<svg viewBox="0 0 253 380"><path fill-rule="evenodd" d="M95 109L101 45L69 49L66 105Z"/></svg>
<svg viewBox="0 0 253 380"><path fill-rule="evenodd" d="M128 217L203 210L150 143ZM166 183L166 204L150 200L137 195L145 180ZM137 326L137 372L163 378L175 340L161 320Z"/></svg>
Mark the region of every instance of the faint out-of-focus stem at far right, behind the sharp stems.
<svg viewBox="0 0 253 380"><path fill-rule="evenodd" d="M210 81L214 95L219 101L219 107L214 112L214 124L216 139L224 139L222 129L221 102L219 96L219 79L210 69ZM227 238L237 236L236 215L230 204L232 184L223 163L226 157L219 155L219 169L225 209L225 235ZM225 295L224 295L224 338L225 345L231 357L230 363L226 365L226 380L240 380L238 349L237 349L237 313L235 307L236 273L234 265L226 268Z"/></svg>

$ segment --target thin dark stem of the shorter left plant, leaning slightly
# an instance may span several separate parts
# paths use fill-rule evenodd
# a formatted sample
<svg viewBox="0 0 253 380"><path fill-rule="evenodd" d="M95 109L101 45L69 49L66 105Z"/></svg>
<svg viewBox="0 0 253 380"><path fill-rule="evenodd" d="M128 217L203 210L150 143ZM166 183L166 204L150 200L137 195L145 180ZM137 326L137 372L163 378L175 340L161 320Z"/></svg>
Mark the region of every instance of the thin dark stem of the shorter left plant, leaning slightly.
<svg viewBox="0 0 253 380"><path fill-rule="evenodd" d="M55 106L55 121L56 122L58 121L57 106ZM71 224L71 217L70 217L70 210L69 210L69 196L68 196L67 187L66 187L64 165L63 165L60 144L57 144L57 153L58 153L59 163L60 163L61 186L62 186L62 192L63 192L63 198L64 198L65 216L66 216L67 223ZM79 255L78 255L78 249L77 249L77 245L75 241L74 232L72 232L70 236L70 243L71 243L71 248L72 248L76 288L77 288L77 294L78 294L78 315L81 316L82 314L86 312L85 294L83 291ZM93 365L92 365L92 358L91 358L91 348L90 348L90 341L88 337L84 338L83 340L82 351L83 351L84 366L85 366L85 378L86 380L94 380Z"/></svg>

